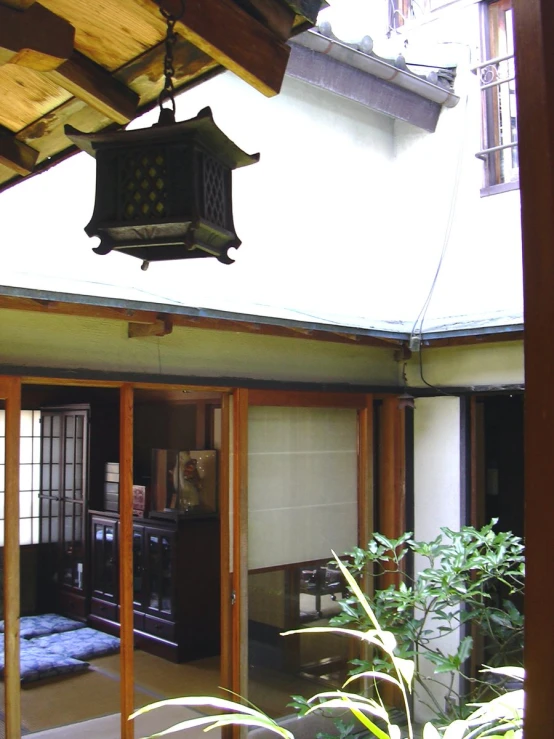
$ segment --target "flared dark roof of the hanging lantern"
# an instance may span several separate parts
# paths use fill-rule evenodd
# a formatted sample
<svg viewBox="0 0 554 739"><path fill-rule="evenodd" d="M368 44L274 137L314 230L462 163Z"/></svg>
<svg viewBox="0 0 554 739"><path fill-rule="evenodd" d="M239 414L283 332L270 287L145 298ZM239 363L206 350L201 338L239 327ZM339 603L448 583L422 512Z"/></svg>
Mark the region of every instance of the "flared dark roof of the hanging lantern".
<svg viewBox="0 0 554 739"><path fill-rule="evenodd" d="M79 149L96 157L98 149L112 146L146 146L171 144L183 139L194 140L225 162L230 169L255 164L259 154L246 154L216 125L211 108L203 108L195 118L167 125L154 125L133 131L101 131L81 133L73 126L65 126L64 133Z"/></svg>

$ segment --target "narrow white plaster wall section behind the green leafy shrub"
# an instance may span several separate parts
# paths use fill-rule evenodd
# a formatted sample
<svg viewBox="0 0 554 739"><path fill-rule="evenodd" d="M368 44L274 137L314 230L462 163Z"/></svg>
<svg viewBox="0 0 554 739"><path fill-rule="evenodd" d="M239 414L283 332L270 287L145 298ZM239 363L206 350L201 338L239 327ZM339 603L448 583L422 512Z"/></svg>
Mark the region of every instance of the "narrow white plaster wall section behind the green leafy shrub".
<svg viewBox="0 0 554 739"><path fill-rule="evenodd" d="M414 493L416 541L434 539L443 526L458 530L460 519L460 400L459 398L418 398L414 412ZM414 571L425 566L416 556ZM457 634L441 637L437 646L448 653L455 652ZM433 675L429 666L422 669L424 675ZM441 675L433 675L439 682L446 682ZM445 691L435 690L437 700L444 700ZM424 694L415 691L416 719L424 721L432 717L421 700Z"/></svg>

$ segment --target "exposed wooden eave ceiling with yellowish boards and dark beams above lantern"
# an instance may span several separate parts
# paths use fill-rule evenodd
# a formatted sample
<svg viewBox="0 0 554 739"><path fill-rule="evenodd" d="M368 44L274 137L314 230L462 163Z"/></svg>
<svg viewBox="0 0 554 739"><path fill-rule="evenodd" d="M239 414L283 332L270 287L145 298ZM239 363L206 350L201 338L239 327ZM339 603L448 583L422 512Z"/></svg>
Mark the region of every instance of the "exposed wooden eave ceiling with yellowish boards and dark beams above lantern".
<svg viewBox="0 0 554 739"><path fill-rule="evenodd" d="M166 24L180 16L175 87L230 69L279 92L287 39L323 0L0 0L0 191L74 151L65 124L124 126L163 87Z"/></svg>

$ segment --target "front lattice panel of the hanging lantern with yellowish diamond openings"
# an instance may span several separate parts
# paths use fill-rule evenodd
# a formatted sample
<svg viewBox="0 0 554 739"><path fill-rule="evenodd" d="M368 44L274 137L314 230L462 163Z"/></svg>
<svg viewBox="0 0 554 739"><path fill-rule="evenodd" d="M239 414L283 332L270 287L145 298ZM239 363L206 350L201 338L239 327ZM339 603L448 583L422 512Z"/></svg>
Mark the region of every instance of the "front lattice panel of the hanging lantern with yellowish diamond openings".
<svg viewBox="0 0 554 739"><path fill-rule="evenodd" d="M133 221L167 215L167 166L162 149L132 150L121 158L121 216Z"/></svg>

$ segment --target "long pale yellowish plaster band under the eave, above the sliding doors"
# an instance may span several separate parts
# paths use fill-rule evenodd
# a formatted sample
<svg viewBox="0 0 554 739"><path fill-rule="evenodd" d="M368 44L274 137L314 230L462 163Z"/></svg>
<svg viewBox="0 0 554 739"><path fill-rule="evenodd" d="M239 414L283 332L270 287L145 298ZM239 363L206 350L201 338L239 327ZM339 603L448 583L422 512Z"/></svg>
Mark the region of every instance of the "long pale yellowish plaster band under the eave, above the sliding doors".
<svg viewBox="0 0 554 739"><path fill-rule="evenodd" d="M0 365L188 377L396 384L392 350L176 327L129 339L125 321L0 311Z"/></svg>

